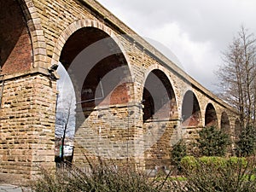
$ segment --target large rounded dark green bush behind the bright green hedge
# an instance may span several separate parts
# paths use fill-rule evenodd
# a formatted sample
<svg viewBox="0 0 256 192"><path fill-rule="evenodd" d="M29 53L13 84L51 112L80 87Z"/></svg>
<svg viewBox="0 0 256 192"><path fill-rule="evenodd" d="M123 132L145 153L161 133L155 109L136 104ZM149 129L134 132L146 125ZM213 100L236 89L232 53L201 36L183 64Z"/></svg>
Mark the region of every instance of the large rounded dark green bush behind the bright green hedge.
<svg viewBox="0 0 256 192"><path fill-rule="evenodd" d="M205 127L199 131L197 139L199 154L201 156L224 156L230 137L223 131L217 130L214 126Z"/></svg>

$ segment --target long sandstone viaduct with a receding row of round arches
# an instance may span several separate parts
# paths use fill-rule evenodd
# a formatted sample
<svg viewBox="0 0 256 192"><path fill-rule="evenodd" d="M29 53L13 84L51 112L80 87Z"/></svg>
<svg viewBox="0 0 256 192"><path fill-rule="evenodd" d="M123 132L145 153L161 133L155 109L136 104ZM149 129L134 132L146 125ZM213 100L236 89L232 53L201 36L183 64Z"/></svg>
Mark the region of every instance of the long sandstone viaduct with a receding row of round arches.
<svg viewBox="0 0 256 192"><path fill-rule="evenodd" d="M68 95L57 89L60 63L73 82L73 162L81 166L86 155L168 168L173 144L207 125L236 136L234 108L100 3L0 0L0 10L1 179L55 166L56 103Z"/></svg>

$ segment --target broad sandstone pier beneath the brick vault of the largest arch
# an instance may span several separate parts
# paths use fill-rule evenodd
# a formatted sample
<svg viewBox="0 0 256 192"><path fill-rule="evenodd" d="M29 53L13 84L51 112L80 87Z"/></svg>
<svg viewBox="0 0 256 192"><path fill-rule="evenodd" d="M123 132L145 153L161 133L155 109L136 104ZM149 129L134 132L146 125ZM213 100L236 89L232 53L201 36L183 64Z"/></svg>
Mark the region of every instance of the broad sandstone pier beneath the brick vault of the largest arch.
<svg viewBox="0 0 256 192"><path fill-rule="evenodd" d="M143 168L137 160L143 153L143 128L139 123L141 109L136 103L96 107L76 131L74 163L88 166L100 158L118 167Z"/></svg>

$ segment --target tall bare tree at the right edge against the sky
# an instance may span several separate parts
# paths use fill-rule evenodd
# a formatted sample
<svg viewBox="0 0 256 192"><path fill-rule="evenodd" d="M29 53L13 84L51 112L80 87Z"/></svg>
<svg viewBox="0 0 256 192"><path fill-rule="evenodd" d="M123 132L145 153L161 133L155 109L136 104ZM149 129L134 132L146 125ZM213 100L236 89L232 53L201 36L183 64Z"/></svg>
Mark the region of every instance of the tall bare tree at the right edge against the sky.
<svg viewBox="0 0 256 192"><path fill-rule="evenodd" d="M224 65L219 67L217 73L220 96L237 108L241 127L255 125L255 36L241 26L241 30L223 55Z"/></svg>

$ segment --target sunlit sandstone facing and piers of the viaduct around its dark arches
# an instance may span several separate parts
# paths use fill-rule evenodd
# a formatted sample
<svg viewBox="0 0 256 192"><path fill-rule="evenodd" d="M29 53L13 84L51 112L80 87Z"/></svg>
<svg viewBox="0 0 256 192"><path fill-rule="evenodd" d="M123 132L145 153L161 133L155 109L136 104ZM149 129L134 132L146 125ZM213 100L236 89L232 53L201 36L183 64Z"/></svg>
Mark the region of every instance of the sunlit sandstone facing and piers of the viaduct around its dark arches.
<svg viewBox="0 0 256 192"><path fill-rule="evenodd" d="M85 150L93 160L99 154L106 159L115 157L119 166L128 162L142 169L168 167L172 145L181 137L193 141L197 137L196 131L205 125L208 103L212 103L217 112L218 125L222 112L226 112L230 117L230 129L233 129L234 109L168 61L95 1L9 2L0 4L1 10L15 10L15 17L5 11L8 20L1 19L0 23L8 21L16 26L14 30L9 30L9 25L0 29L1 58L5 58L1 62L4 76L0 82L4 82L0 109L0 171L3 174L28 179L38 172L38 165L54 167L56 86L55 80L49 79L48 67L60 61L61 50L68 38L83 27L95 27L116 38L131 73L132 84L128 100L119 102L119 105L113 102L92 108L80 122L75 162L85 164ZM19 20L20 16L22 20ZM6 40L17 31L20 35L14 42ZM17 44L10 49L12 51L6 52L9 42ZM143 88L153 70L164 73L170 81L176 106L170 119L143 122ZM188 90L194 92L201 108L200 124L195 127L181 125L183 96ZM122 90L114 92L113 101L119 101L126 94Z"/></svg>

